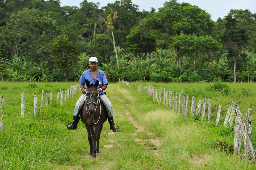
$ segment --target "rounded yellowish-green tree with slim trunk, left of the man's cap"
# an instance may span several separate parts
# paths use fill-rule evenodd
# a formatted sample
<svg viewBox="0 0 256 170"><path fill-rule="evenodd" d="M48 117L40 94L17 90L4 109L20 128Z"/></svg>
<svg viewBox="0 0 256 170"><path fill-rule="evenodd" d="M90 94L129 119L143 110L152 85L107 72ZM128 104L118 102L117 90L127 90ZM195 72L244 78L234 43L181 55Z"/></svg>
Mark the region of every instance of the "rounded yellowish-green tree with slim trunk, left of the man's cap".
<svg viewBox="0 0 256 170"><path fill-rule="evenodd" d="M69 41L66 36L59 36L51 44L51 59L54 65L65 72L66 82L68 73L73 69L74 63L78 60L79 50L77 43Z"/></svg>

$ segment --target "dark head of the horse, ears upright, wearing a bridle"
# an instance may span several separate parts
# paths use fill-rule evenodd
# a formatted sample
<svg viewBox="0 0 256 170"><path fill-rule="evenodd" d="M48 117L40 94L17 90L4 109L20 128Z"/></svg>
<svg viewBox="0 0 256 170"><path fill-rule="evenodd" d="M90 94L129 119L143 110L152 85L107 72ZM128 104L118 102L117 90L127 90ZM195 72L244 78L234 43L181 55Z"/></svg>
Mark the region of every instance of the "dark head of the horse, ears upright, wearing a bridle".
<svg viewBox="0 0 256 170"><path fill-rule="evenodd" d="M86 80L87 93L86 93L86 101L87 101L87 109L90 115L93 115L97 109L98 105L98 92L97 87L99 86L99 81L97 80L95 84L90 84L88 80Z"/></svg>

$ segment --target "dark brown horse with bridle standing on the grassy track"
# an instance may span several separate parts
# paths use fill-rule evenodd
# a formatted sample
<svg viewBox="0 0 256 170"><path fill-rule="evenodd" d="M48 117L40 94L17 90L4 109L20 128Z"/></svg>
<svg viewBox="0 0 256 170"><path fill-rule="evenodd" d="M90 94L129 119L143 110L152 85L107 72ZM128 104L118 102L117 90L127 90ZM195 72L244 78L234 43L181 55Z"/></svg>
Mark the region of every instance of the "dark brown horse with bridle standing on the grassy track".
<svg viewBox="0 0 256 170"><path fill-rule="evenodd" d="M103 127L103 123L107 120L107 113L103 105L100 103L99 95L97 92L99 81L97 80L93 85L90 84L88 80L86 80L86 86L86 101L80 116L81 121L85 124L88 133L88 141L90 144L89 157L96 158L96 156L100 155L100 133Z"/></svg>

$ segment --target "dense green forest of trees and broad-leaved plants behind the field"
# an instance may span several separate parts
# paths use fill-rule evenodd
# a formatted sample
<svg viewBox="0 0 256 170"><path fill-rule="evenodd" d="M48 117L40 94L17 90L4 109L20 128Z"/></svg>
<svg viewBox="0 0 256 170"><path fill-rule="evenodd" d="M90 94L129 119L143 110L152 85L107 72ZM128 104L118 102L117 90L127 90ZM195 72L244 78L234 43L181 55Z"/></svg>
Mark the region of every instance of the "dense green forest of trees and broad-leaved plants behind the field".
<svg viewBox="0 0 256 170"><path fill-rule="evenodd" d="M0 0L0 80L78 81L98 58L108 81L254 82L256 14L216 22L198 6L132 0L80 7L59 0Z"/></svg>

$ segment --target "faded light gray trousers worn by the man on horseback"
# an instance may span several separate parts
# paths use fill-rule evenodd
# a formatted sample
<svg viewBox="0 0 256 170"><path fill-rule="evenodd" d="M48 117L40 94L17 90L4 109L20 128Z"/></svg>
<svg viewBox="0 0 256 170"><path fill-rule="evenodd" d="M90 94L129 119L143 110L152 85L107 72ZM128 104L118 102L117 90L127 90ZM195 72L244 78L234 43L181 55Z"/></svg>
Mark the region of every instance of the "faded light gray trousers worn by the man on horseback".
<svg viewBox="0 0 256 170"><path fill-rule="evenodd" d="M108 115L110 117L113 116L113 109L112 109L112 104L110 103L108 97L106 95L102 95L100 94L100 98L102 100L102 102L104 103L104 105L106 106L107 110L108 110ZM78 111L79 111L79 108L80 106L83 104L83 101L86 99L86 95L85 93L82 94L82 96L80 96L80 98L77 100L77 103L76 103L76 106L75 106L75 109L74 109L74 116L78 116Z"/></svg>

